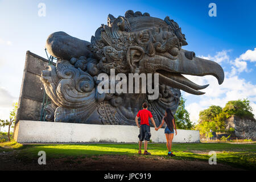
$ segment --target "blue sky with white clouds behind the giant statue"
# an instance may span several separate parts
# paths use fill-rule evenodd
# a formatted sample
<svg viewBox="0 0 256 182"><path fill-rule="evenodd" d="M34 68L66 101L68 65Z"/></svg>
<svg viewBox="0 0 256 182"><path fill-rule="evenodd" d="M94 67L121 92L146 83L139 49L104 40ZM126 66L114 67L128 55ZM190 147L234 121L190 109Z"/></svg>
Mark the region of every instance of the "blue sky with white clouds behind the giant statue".
<svg viewBox="0 0 256 182"><path fill-rule="evenodd" d="M217 16L208 15L209 3L217 5ZM45 3L46 16L38 16ZM192 121L210 105L249 98L256 114L256 2L255 1L1 1L0 0L0 118L8 118L18 101L26 51L46 57L44 46L52 32L64 31L90 41L108 14L115 17L133 10L164 19L174 19L197 56L222 65L224 84L212 76L189 77L197 84L210 83L203 96L183 93Z"/></svg>

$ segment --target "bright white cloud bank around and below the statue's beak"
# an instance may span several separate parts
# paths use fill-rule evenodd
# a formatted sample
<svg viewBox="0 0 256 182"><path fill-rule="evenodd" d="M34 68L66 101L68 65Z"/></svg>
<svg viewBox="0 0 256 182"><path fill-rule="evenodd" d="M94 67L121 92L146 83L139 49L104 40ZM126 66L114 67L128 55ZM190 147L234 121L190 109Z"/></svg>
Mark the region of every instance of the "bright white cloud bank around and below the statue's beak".
<svg viewBox="0 0 256 182"><path fill-rule="evenodd" d="M255 50L256 49L254 49L254 51ZM192 102L186 106L190 113L191 121L198 121L199 112L201 110L207 109L210 105L218 105L224 107L228 101L243 98L250 100L250 105L253 107L253 113L256 116L256 85L251 84L251 82L248 82L243 78L240 78L237 74L242 71L247 71L247 63L246 61L243 61L242 57L245 57L243 55L251 56L252 54L250 50L249 54L246 54L246 52L234 61L230 61L229 56L226 55L226 51L222 51L222 53L217 52L218 56L201 56L203 58L205 57L206 59L212 58L213 61L216 61L217 57L219 62L225 61L225 63L234 64L230 72L225 72L226 76L222 85L218 85L216 78L213 76L196 77L184 75L189 80L196 82L199 85L209 84L208 88L202 90L205 92L203 96L193 96L191 94L184 93L184 97L187 100L191 99L192 97L196 97L196 100L198 100L197 102ZM222 57L220 55L222 55ZM226 59L224 59L224 57ZM250 60L253 60L252 56L250 57Z"/></svg>

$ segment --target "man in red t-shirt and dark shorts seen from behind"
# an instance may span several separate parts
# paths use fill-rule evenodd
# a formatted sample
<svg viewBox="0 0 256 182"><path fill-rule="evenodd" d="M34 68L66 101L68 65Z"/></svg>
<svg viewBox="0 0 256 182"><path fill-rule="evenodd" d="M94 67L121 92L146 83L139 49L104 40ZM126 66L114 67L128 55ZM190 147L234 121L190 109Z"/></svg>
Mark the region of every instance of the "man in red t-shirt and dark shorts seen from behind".
<svg viewBox="0 0 256 182"><path fill-rule="evenodd" d="M150 141L150 125L148 123L148 118L150 118L151 122L155 126L155 121L154 118L149 110L147 110L147 104L146 102L143 103L142 105L143 109L139 110L135 122L137 126L139 127L139 155L141 155L141 146L142 146L142 141L144 140L144 155L151 155L150 152L147 151L147 141ZM138 119L141 118L141 126L138 123Z"/></svg>

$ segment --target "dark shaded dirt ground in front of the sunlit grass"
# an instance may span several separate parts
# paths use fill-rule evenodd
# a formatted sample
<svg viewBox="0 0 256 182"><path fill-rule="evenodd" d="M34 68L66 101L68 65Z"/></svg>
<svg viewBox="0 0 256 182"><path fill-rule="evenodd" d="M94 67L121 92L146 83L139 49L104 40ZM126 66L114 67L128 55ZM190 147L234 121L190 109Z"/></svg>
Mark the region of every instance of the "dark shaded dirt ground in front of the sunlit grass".
<svg viewBox="0 0 256 182"><path fill-rule="evenodd" d="M37 159L18 159L13 152L0 153L0 170L88 170L88 171L237 171L226 164L210 165L200 160L175 160L163 157L105 155L90 158L47 159L46 165L39 165Z"/></svg>

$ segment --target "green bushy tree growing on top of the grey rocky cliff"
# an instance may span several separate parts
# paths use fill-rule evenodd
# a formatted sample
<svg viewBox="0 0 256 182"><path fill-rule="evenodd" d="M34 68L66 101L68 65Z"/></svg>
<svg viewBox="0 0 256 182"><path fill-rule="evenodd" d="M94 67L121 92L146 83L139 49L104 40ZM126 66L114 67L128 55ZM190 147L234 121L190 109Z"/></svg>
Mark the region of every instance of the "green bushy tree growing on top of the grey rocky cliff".
<svg viewBox="0 0 256 182"><path fill-rule="evenodd" d="M223 111L229 116L237 115L238 117L254 118L253 109L247 99L228 101Z"/></svg>

